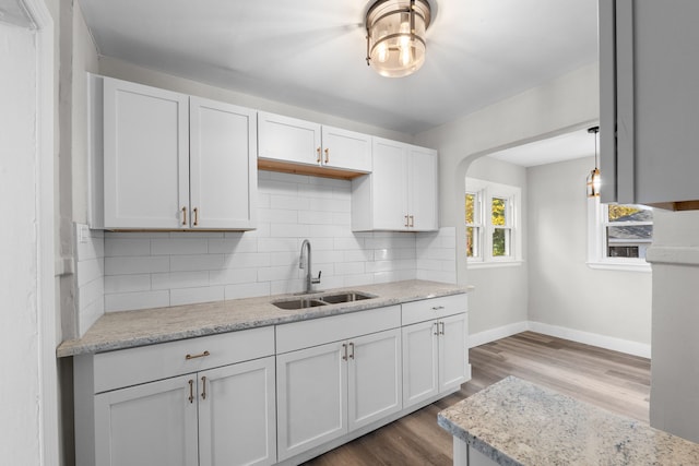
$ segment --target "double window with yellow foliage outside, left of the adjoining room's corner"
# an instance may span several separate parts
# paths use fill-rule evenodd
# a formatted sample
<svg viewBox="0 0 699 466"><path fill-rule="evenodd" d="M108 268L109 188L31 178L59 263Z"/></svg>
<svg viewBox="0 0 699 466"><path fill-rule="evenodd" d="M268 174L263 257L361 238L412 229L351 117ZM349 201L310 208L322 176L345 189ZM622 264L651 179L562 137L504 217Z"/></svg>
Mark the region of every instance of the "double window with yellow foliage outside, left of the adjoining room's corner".
<svg viewBox="0 0 699 466"><path fill-rule="evenodd" d="M470 266L521 262L520 188L466 178L466 258Z"/></svg>

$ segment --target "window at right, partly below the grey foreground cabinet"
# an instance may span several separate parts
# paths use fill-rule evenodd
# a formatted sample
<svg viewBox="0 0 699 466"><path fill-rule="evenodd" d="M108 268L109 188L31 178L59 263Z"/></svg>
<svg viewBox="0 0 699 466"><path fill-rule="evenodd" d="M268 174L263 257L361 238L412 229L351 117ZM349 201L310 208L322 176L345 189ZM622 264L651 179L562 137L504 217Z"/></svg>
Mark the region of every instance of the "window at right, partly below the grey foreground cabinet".
<svg viewBox="0 0 699 466"><path fill-rule="evenodd" d="M650 272L645 251L653 240L653 211L644 205L589 201L588 265Z"/></svg>

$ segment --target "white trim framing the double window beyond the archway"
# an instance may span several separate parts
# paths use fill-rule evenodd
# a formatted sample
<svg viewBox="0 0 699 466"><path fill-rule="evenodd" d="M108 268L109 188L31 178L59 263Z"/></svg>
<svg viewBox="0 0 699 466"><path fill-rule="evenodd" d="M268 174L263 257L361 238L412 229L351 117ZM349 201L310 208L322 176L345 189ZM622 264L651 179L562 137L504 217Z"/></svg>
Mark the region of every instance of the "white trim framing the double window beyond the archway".
<svg viewBox="0 0 699 466"><path fill-rule="evenodd" d="M519 266L522 264L522 190L519 187L501 184L493 181L485 181L466 177L466 190L469 193L476 193L481 201L481 212L475 213L481 216L481 228L478 234L479 255L466 258L470 268L489 268ZM507 199L510 205L510 255L493 256L493 231L495 227L490 224L489 208L493 205L493 198Z"/></svg>

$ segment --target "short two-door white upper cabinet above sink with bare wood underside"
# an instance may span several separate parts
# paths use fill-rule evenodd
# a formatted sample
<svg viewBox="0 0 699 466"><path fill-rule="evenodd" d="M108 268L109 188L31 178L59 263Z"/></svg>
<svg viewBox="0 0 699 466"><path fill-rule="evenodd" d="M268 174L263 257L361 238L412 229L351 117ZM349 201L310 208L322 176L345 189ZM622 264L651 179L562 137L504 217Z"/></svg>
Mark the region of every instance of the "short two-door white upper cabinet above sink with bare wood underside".
<svg viewBox="0 0 699 466"><path fill-rule="evenodd" d="M304 171L303 166L348 172L371 171L371 136L353 131L260 111L258 113L260 168Z"/></svg>

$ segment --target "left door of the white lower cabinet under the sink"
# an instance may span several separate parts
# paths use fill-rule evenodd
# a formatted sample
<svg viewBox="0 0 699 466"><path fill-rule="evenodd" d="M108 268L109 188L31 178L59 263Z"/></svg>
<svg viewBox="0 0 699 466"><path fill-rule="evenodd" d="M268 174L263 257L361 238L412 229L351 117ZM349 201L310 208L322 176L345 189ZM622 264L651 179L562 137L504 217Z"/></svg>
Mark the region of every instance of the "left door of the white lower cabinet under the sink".
<svg viewBox="0 0 699 466"><path fill-rule="evenodd" d="M341 343L276 357L277 452L283 461L347 432Z"/></svg>

